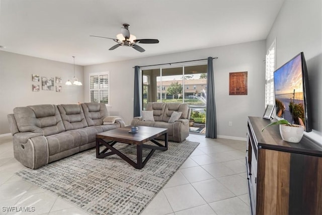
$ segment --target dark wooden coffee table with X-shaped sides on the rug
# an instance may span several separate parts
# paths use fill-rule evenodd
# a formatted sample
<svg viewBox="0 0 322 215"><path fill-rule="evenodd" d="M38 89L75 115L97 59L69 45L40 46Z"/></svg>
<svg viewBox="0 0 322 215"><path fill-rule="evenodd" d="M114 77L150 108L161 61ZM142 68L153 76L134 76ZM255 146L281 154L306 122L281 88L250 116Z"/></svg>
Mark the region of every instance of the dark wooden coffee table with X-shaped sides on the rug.
<svg viewBox="0 0 322 215"><path fill-rule="evenodd" d="M131 127L126 126L96 134L96 158L105 158L116 154L136 169L142 169L155 150L168 150L167 128L137 126L139 128L137 133L129 133ZM165 146L154 140L161 135L165 135ZM144 144L148 141L153 142L156 146ZM136 145L136 163L113 147L117 142ZM103 151L100 151L101 145L106 147ZM151 149L144 161L142 156L143 148Z"/></svg>

